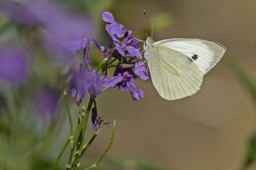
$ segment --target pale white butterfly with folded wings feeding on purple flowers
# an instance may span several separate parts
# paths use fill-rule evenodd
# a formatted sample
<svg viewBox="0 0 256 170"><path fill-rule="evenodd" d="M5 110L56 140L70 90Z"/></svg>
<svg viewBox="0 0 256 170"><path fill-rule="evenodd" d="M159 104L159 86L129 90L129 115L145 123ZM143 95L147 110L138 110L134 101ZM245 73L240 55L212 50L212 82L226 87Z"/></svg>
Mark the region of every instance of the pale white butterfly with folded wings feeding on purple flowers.
<svg viewBox="0 0 256 170"><path fill-rule="evenodd" d="M185 38L154 42L147 37L143 48L153 84L166 100L195 94L203 76L226 51L223 45L213 40Z"/></svg>

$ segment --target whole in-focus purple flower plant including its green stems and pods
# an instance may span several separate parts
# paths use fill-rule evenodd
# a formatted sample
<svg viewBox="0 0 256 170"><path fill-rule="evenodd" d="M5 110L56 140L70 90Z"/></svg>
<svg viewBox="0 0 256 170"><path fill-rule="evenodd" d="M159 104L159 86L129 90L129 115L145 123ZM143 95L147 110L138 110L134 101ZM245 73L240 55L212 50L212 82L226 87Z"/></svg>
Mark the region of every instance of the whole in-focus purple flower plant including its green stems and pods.
<svg viewBox="0 0 256 170"><path fill-rule="evenodd" d="M68 158L68 164L66 165L66 168L69 170L80 168L79 160L81 156L88 149L101 128L100 125L103 120L97 113L96 97L106 88L118 87L121 91L130 90L133 100L143 99L144 91L137 87L135 79L148 79L147 69L140 61L140 59L142 59L140 48L138 47L140 43L131 35L132 31L125 29L123 25L117 23L110 12L102 12L102 19L105 22L108 22L105 26L106 32L108 32L111 37L108 48L101 46L94 38L79 38L62 44L68 46L67 49L73 54L81 49L83 50L83 63L80 63L79 71L72 71L72 96L78 107L78 123L74 135L70 110L67 102L67 93L65 92L64 95L69 116L71 135L74 136L74 139L69 140L71 143L71 150ZM93 70L90 65L92 63L90 53L91 41L94 41L97 48L103 53L103 60L96 70ZM108 68L110 67L116 67L112 77L108 75ZM90 93L88 106L87 108L82 107L80 112L80 103L84 96L86 96L86 93ZM93 104L94 107L92 108ZM89 140L84 143L84 136L91 111L92 127L94 132ZM114 140L115 130L116 121L114 120L112 137L108 147L106 147L100 158L85 170L96 167L109 151ZM63 149L67 147L66 143L62 147ZM56 165L54 167L56 167Z"/></svg>

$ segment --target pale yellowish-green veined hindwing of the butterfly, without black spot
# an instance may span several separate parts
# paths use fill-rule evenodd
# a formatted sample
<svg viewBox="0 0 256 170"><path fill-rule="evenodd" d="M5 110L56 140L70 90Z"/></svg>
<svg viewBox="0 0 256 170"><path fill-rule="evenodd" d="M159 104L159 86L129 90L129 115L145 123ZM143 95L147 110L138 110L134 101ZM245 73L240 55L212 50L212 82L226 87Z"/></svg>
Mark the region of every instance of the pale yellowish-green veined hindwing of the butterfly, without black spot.
<svg viewBox="0 0 256 170"><path fill-rule="evenodd" d="M171 48L154 45L148 60L155 88L166 100L181 99L195 94L203 81L203 73L186 55Z"/></svg>

